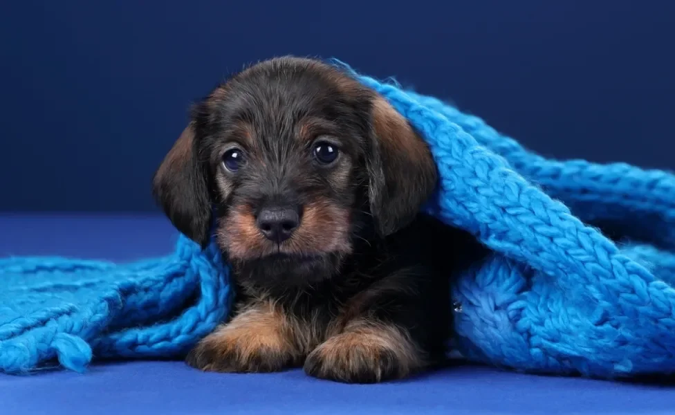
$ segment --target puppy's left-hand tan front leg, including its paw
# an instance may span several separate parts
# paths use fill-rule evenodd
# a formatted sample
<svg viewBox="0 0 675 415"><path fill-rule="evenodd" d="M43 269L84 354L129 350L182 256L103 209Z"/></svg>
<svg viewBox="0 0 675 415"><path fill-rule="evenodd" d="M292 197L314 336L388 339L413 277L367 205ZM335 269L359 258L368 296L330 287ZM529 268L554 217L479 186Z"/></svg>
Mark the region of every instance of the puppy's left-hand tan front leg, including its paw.
<svg viewBox="0 0 675 415"><path fill-rule="evenodd" d="M299 326L269 301L248 304L228 324L207 335L187 356L204 371L270 372L299 365Z"/></svg>

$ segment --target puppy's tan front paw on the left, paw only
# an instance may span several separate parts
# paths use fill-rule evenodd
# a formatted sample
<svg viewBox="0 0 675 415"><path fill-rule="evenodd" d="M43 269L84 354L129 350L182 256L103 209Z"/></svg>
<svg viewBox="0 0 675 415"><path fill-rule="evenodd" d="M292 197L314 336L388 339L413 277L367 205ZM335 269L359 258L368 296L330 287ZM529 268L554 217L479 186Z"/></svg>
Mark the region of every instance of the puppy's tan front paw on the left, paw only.
<svg viewBox="0 0 675 415"><path fill-rule="evenodd" d="M293 347L281 333L223 326L201 340L186 362L203 371L258 373L279 371L296 360Z"/></svg>

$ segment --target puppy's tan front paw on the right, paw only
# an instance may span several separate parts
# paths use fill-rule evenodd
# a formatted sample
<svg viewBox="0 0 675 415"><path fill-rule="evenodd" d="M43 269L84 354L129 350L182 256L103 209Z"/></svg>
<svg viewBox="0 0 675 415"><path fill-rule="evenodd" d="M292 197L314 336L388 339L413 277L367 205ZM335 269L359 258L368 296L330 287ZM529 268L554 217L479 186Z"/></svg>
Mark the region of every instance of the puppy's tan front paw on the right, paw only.
<svg viewBox="0 0 675 415"><path fill-rule="evenodd" d="M335 335L309 354L310 376L346 383L405 378L422 366L414 345L395 327L373 326Z"/></svg>

